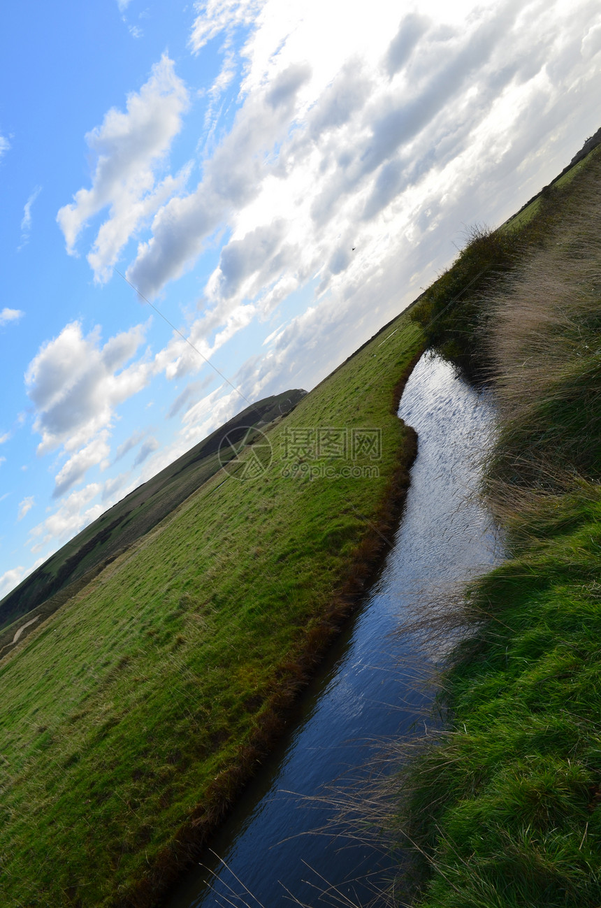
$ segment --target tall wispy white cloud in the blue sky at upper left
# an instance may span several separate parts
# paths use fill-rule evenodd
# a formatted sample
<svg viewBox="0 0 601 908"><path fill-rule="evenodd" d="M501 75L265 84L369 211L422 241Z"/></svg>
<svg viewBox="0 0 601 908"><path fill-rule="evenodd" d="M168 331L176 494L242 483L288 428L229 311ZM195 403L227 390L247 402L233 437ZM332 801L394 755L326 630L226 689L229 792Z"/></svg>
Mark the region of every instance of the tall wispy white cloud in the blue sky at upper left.
<svg viewBox="0 0 601 908"><path fill-rule="evenodd" d="M163 54L139 93L127 97L126 113L111 108L103 123L85 136L96 163L91 189L80 189L74 202L57 214L67 252L95 214L109 207L88 255L94 276L105 281L123 246L138 225L150 217L188 176L184 170L156 183L156 173L172 140L182 128L182 114L189 104L188 92L174 71L173 61Z"/></svg>

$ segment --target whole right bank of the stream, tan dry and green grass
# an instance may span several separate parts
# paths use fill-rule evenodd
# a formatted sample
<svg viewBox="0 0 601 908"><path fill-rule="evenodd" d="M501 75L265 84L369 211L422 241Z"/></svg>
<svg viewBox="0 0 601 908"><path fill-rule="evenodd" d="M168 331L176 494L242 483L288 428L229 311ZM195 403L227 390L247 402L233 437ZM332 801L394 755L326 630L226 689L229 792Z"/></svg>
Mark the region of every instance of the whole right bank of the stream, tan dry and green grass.
<svg viewBox="0 0 601 908"><path fill-rule="evenodd" d="M509 558L469 591L447 729L404 776L423 908L601 904L601 157L556 203L472 305Z"/></svg>

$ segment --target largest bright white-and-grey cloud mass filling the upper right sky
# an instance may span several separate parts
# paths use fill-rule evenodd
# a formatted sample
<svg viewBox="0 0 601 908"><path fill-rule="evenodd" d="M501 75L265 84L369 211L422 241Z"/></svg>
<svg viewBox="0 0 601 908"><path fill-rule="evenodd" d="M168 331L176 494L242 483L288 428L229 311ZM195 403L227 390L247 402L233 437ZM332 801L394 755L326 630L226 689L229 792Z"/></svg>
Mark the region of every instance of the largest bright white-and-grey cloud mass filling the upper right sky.
<svg viewBox="0 0 601 908"><path fill-rule="evenodd" d="M241 105L201 183L157 211L128 278L156 294L229 229L204 287L212 309L192 324L192 342L209 358L314 281L310 308L241 374L257 392L278 390L288 376L310 386L362 331L361 340L369 336L380 313L386 321L398 311L399 287L409 301L448 262L458 224L483 211L492 222L502 215L509 174L523 197L538 188L533 162L543 136L560 130L567 143L564 99L575 84L583 99L590 94L591 57L583 63L584 50L580 57L574 48L596 53L591 8L583 0L567 15L539 0L506 0L444 15L425 3L399 15L376 0L340 16L338 5L317 0L285 9L266 0L261 11L198 5L194 49L249 29ZM335 44L327 42L332 27ZM199 366L180 338L156 364L169 378ZM200 410L189 408L186 419Z"/></svg>

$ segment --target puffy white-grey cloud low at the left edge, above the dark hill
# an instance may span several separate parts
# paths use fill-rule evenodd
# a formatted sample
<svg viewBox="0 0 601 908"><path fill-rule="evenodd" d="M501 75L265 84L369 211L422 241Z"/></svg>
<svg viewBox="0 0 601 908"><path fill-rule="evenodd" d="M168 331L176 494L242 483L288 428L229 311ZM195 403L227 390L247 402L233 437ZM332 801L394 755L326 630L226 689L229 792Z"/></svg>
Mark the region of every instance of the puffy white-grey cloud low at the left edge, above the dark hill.
<svg viewBox="0 0 601 908"><path fill-rule="evenodd" d="M42 436L39 453L59 444L72 451L111 425L115 407L150 380L147 362L125 367L143 338L143 325L136 325L101 344L99 330L84 337L74 321L44 343L25 373L34 429Z"/></svg>

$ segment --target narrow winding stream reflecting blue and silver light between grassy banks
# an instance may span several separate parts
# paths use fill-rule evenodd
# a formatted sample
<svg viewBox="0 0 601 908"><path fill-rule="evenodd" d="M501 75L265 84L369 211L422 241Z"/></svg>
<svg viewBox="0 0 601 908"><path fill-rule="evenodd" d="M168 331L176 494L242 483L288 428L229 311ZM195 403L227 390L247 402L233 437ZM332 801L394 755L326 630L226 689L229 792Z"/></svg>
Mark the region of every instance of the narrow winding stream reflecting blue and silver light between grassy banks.
<svg viewBox="0 0 601 908"><path fill-rule="evenodd" d="M335 834L334 808L320 794L352 785L383 739L422 730L433 696L429 656L393 632L445 587L501 558L471 496L492 415L486 393L447 363L419 360L399 406L418 431L419 453L394 546L303 696L298 724L213 840L215 854L182 879L165 908L365 905L386 879L389 858Z"/></svg>

